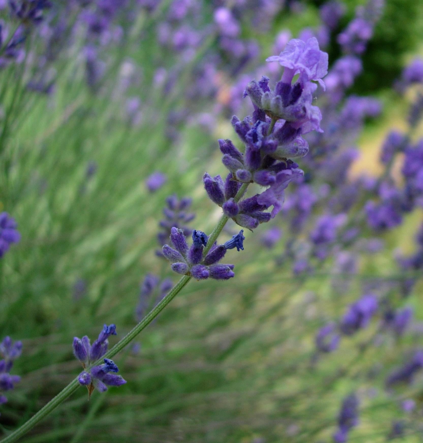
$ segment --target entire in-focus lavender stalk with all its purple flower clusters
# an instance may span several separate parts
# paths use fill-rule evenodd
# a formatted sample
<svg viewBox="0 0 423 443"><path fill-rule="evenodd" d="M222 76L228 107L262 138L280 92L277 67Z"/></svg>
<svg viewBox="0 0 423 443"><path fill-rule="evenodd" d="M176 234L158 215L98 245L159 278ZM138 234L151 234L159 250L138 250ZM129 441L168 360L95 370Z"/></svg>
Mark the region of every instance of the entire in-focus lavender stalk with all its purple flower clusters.
<svg viewBox="0 0 423 443"><path fill-rule="evenodd" d="M105 391L106 385L125 383L121 377L110 374L118 371L110 357L127 346L151 323L191 278L204 280L210 276L217 280L227 280L235 275L233 265L217 263L225 256L227 249L236 248L238 251L244 249L245 237L241 230L223 245L216 245L215 241L224 225L231 216L239 225L254 229L260 222L275 217L281 210L285 188L292 179L303 174L296 163L287 159L287 155L296 155L297 145L305 146L301 134L320 130L321 115L319 109L311 105L312 91L316 88L313 81L319 81L324 87L322 78L327 73L327 54L320 51L317 40L311 38L305 43L301 40L292 40L276 59L281 66L284 66L281 81L273 91L269 89L268 78L262 78L260 82L251 82L246 94L254 104L253 115L243 121L236 117L232 119L235 131L246 144L245 152L238 151L230 140L219 142L223 163L231 171L226 185L220 176L216 176L215 179L208 174L204 176L204 186L208 196L223 207L219 223L210 236L202 231L193 230L192 245L189 248L185 232L172 227L170 239L175 249L169 245L163 246L163 255L173 263L173 271L183 275L181 280L111 350L107 351L107 338L115 334L115 325L105 325L92 346L89 345L87 336L81 340L74 338L75 356L81 361L85 370L27 423L6 437L4 442L19 439L61 404L78 385L87 386L91 395L94 387ZM272 60L273 58L269 59ZM292 84L296 74L299 74L298 81ZM302 151L301 155L305 153ZM250 183L269 187L261 194L243 198ZM232 209L228 209L229 206ZM265 212L270 206L273 206L272 213Z"/></svg>

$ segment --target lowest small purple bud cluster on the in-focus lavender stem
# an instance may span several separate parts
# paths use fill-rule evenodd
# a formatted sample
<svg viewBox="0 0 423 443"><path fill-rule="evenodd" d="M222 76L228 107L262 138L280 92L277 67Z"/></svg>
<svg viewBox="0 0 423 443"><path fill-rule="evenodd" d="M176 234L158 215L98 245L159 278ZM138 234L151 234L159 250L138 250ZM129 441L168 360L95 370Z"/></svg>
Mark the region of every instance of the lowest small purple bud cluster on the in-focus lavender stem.
<svg viewBox="0 0 423 443"><path fill-rule="evenodd" d="M104 392L107 391L107 386L120 386L126 383L120 375L111 374L111 372L119 372L119 369L109 358L104 358L104 363L101 365L89 367L106 354L109 344L108 338L111 335L116 335L114 324L104 325L103 330L92 345L86 335L82 338L73 338L73 354L84 368L78 376L78 381L81 385L87 386L90 396L95 388L100 392Z"/></svg>

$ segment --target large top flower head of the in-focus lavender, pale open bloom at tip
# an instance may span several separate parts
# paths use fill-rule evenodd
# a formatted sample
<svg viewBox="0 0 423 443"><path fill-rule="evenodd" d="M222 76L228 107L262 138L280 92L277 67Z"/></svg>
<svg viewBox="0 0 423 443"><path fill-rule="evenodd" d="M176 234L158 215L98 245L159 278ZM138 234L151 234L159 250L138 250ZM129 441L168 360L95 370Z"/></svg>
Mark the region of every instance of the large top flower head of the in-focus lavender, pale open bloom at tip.
<svg viewBox="0 0 423 443"><path fill-rule="evenodd" d="M281 210L285 188L299 179L303 171L289 157L307 154L308 144L302 138L313 130L321 131L319 108L313 106L312 93L323 87L327 74L327 54L319 50L315 38L307 42L294 39L288 42L279 56L268 58L284 66L281 81L274 90L269 78L250 82L245 95L249 96L254 113L244 120L233 117L231 123L245 144L239 151L231 140L219 140L222 162L230 171L226 180L220 175L205 174L204 187L210 199L223 208L224 214L248 229L274 218ZM300 74L292 84L292 79ZM261 194L238 202L242 183L257 183L268 187ZM269 214L266 210L273 206Z"/></svg>

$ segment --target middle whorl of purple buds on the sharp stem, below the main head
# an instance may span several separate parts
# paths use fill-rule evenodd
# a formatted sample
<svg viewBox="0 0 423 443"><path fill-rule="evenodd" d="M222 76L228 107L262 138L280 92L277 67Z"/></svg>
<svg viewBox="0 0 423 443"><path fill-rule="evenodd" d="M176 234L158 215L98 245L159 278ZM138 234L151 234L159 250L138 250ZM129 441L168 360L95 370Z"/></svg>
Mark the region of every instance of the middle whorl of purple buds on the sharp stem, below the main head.
<svg viewBox="0 0 423 443"><path fill-rule="evenodd" d="M172 270L178 274L188 275L197 280L206 280L209 277L215 280L228 280L235 276L233 264L218 264L228 249L244 249L245 237L239 231L231 240L223 245L212 245L203 257L203 249L207 245L208 237L202 231L192 231L192 245L188 247L182 229L172 228L170 240L174 249L169 245L163 246L163 255L172 263Z"/></svg>

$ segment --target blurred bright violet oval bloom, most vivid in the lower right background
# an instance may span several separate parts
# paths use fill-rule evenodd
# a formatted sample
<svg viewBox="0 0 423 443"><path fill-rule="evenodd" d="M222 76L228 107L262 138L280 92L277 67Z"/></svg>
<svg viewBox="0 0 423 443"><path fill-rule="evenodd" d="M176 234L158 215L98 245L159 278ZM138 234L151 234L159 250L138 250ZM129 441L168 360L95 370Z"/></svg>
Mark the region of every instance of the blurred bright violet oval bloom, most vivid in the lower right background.
<svg viewBox="0 0 423 443"><path fill-rule="evenodd" d="M351 304L341 319L340 329L343 334L352 335L370 323L378 307L377 297L373 294L363 295Z"/></svg>

